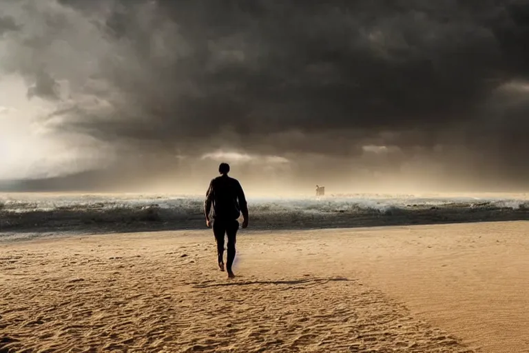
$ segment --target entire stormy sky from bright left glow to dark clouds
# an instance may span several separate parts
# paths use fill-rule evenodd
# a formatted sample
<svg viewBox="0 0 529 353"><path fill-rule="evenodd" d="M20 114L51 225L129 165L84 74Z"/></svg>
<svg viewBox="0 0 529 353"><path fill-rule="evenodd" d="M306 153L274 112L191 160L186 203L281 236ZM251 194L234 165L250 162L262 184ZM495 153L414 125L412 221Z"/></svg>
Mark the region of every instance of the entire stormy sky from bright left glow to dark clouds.
<svg viewBox="0 0 529 353"><path fill-rule="evenodd" d="M3 0L0 72L0 179L529 187L526 0Z"/></svg>

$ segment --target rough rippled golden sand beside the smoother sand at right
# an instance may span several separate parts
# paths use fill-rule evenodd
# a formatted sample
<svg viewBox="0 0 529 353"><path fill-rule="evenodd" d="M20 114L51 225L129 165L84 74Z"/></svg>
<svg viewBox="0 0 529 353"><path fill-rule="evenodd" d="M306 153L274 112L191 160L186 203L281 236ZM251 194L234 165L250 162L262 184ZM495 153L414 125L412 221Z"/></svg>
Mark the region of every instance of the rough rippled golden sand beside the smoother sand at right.
<svg viewBox="0 0 529 353"><path fill-rule="evenodd" d="M233 281L209 232L0 244L0 352L473 352L302 234L240 236Z"/></svg>

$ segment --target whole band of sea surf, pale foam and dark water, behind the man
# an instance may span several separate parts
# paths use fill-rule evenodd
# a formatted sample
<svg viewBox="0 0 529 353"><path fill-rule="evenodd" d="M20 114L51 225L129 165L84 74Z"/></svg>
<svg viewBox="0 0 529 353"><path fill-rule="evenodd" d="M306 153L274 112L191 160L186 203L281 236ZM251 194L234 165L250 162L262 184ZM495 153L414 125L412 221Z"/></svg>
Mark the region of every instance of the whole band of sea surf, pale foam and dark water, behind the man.
<svg viewBox="0 0 529 353"><path fill-rule="evenodd" d="M517 197L418 197L353 194L249 199L256 230L529 219ZM172 195L3 194L0 232L34 234L203 229L203 197Z"/></svg>

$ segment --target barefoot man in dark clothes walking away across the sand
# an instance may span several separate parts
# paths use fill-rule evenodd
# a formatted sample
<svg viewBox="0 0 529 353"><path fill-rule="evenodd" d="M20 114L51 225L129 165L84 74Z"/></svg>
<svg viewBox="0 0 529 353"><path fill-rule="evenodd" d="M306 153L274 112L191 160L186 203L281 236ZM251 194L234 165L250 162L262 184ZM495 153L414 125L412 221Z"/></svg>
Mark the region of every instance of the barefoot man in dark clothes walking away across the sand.
<svg viewBox="0 0 529 353"><path fill-rule="evenodd" d="M228 278L234 278L234 272L231 265L235 259L235 243L239 222L237 219L242 213L242 228L248 226L248 205L245 198L245 192L237 179L228 177L229 165L220 163L218 166L220 177L216 177L209 183L207 188L206 199L204 201L204 212L206 215L207 227L213 228L215 241L217 243L218 267L224 271L224 236L228 237L228 256L226 261L226 270ZM213 205L213 212L211 212ZM212 221L209 214L212 213Z"/></svg>

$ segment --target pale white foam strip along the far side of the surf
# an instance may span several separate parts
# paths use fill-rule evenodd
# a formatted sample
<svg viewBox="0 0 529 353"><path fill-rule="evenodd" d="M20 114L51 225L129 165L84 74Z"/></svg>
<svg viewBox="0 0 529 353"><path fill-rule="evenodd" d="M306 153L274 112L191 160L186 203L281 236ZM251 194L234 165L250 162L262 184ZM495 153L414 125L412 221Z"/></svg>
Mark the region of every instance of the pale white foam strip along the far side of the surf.
<svg viewBox="0 0 529 353"><path fill-rule="evenodd" d="M351 210L377 210L419 208L441 205L468 205L481 207L492 205L501 208L520 208L528 203L525 195L517 198L489 196L413 196L413 195L348 195L305 197L295 199L251 198L248 202L255 212L307 212L327 213ZM141 195L141 194L0 194L0 208L6 212L35 212L56 210L103 210L138 209L156 207L178 214L194 214L203 207L203 197L187 195Z"/></svg>

